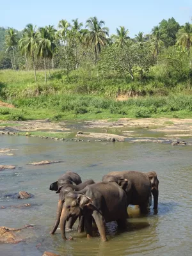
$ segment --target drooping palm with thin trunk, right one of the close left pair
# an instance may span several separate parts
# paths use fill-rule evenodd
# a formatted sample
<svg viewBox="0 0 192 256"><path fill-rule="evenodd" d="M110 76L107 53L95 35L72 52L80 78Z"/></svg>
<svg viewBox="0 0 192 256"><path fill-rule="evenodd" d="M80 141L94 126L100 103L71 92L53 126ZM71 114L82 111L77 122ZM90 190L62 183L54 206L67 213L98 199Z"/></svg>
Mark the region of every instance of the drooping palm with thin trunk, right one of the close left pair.
<svg viewBox="0 0 192 256"><path fill-rule="evenodd" d="M45 82L47 83L46 58L52 59L55 44L51 42L46 28L38 29L38 40L36 44L36 56L44 58Z"/></svg>

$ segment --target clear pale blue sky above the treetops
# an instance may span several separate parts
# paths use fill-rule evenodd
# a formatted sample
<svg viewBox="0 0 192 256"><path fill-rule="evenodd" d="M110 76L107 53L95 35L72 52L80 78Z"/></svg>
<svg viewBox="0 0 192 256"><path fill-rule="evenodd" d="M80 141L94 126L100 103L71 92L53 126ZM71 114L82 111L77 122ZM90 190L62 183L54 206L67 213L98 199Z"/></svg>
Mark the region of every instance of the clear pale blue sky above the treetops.
<svg viewBox="0 0 192 256"><path fill-rule="evenodd" d="M118 26L129 29L130 36L139 31L150 33L162 19L174 17L179 24L191 21L191 0L0 0L0 26L21 30L26 24L36 26L54 25L59 20L97 16L106 22L109 32L115 33Z"/></svg>

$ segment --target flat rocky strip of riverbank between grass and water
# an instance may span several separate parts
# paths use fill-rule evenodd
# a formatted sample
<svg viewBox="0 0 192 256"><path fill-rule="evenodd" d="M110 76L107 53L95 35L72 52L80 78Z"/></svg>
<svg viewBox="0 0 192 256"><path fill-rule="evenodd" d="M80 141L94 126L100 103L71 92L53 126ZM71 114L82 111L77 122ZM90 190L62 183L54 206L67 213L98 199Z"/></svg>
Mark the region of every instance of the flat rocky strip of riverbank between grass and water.
<svg viewBox="0 0 192 256"><path fill-rule="evenodd" d="M117 121L81 122L1 121L0 135L23 135L42 139L74 141L125 141L173 143L192 138L192 119L120 118ZM189 143L190 144L190 143Z"/></svg>

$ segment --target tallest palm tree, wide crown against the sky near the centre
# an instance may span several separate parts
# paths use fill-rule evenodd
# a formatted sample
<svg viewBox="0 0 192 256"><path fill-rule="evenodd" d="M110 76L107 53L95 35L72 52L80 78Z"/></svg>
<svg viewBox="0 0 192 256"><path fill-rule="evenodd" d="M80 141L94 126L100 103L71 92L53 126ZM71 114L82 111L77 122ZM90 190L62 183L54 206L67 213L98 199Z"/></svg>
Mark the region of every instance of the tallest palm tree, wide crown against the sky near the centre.
<svg viewBox="0 0 192 256"><path fill-rule="evenodd" d="M90 19L86 20L86 28L85 31L85 44L86 46L90 45L94 47L95 51L95 64L97 62L97 53L100 53L101 47L104 47L108 44L108 36L109 29L104 26L105 22L103 20L98 21L97 17L90 17Z"/></svg>

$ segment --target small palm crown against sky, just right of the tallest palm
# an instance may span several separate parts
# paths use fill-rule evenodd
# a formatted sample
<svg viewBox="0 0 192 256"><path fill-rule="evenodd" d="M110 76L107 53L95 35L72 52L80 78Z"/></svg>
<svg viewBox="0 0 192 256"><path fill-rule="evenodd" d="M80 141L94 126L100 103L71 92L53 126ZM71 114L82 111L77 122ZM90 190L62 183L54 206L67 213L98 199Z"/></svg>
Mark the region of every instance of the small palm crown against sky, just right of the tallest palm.
<svg viewBox="0 0 192 256"><path fill-rule="evenodd" d="M115 41L115 44L124 47L129 40L129 29L125 29L124 26L120 26L120 29L116 28L116 35L111 35L112 40Z"/></svg>

